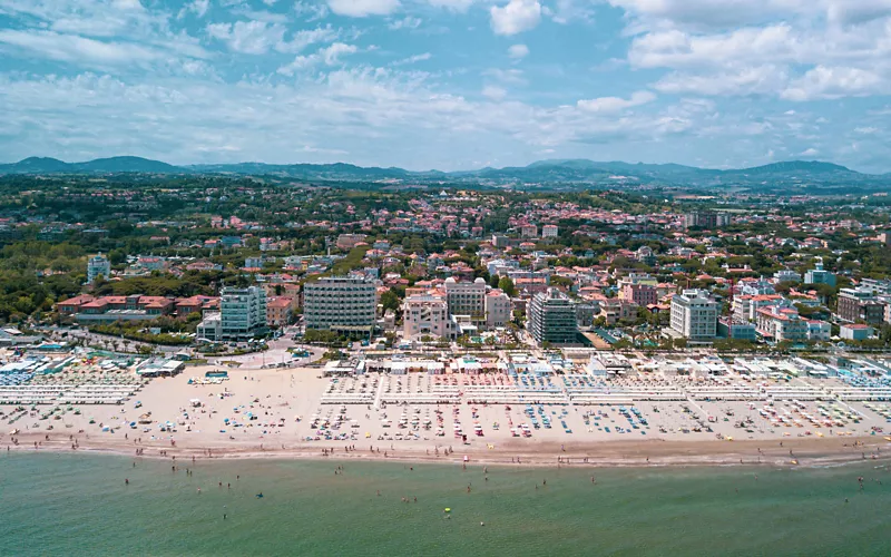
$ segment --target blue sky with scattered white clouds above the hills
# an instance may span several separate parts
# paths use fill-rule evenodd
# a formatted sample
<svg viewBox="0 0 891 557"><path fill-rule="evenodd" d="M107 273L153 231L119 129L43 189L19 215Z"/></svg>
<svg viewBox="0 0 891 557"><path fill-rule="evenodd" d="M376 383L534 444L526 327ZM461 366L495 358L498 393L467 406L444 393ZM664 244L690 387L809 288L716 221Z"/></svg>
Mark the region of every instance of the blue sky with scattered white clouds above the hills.
<svg viewBox="0 0 891 557"><path fill-rule="evenodd" d="M891 0L0 0L0 162L891 172Z"/></svg>

